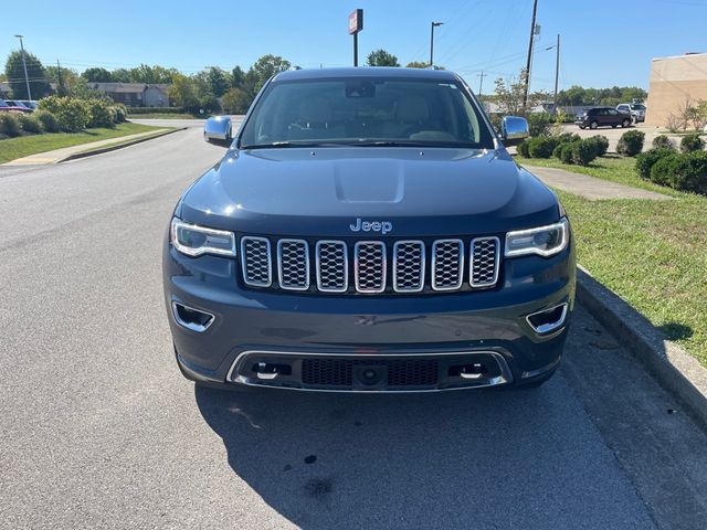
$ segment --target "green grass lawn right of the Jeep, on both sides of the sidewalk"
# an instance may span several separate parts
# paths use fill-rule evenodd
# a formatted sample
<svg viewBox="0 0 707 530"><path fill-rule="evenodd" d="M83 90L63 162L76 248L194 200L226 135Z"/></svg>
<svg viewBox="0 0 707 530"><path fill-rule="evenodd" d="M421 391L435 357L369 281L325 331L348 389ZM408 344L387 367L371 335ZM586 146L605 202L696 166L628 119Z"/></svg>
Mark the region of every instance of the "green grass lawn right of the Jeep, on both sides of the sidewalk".
<svg viewBox="0 0 707 530"><path fill-rule="evenodd" d="M602 158L588 168L558 160L518 161L675 198L589 201L558 191L572 222L580 264L707 367L707 198L641 180L633 159Z"/></svg>

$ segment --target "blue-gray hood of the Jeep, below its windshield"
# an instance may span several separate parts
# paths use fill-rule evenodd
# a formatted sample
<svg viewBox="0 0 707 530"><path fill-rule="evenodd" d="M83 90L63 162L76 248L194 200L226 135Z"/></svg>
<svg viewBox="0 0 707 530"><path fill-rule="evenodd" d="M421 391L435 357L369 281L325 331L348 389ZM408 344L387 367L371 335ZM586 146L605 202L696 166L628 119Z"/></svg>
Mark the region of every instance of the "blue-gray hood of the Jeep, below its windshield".
<svg viewBox="0 0 707 530"><path fill-rule="evenodd" d="M235 232L347 236L388 222L391 236L490 234L557 221L555 194L505 149L387 147L231 150L177 214ZM380 235L380 234L378 234Z"/></svg>

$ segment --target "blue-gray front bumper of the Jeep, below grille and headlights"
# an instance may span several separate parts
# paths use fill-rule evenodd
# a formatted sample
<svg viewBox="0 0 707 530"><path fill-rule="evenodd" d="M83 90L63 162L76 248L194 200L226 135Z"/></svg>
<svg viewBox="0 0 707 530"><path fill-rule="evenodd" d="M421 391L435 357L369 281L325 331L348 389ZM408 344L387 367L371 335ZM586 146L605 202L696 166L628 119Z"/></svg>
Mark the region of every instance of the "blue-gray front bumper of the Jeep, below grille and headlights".
<svg viewBox="0 0 707 530"><path fill-rule="evenodd" d="M243 288L238 268L235 259L187 257L165 245L169 322L189 379L327 391L523 385L558 365L574 303L572 241L550 258L505 259L497 287L473 293L268 293ZM204 329L184 326L175 303L213 319ZM564 307L557 310L560 325L547 332L534 329L528 315L556 307ZM377 372L376 384L359 384L367 369ZM313 370L318 375L312 377ZM331 379L327 370L344 379Z"/></svg>

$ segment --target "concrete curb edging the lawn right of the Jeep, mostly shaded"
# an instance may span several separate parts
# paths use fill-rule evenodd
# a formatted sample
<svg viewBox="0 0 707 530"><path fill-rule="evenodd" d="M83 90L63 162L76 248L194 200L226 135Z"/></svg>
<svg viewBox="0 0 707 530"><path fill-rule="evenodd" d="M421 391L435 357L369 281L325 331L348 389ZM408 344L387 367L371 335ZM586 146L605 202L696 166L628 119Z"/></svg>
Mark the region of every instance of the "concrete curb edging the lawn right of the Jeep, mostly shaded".
<svg viewBox="0 0 707 530"><path fill-rule="evenodd" d="M707 369L579 266L577 279L578 301L707 426Z"/></svg>

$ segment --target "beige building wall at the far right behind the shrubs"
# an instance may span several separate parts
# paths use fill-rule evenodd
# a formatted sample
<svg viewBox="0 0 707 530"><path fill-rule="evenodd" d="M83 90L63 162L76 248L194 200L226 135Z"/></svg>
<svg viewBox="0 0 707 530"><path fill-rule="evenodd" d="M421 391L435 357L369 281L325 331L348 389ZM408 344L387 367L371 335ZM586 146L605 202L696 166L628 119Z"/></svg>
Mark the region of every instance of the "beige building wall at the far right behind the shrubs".
<svg viewBox="0 0 707 530"><path fill-rule="evenodd" d="M665 127L686 99L707 100L707 53L654 59L651 64L646 125Z"/></svg>

